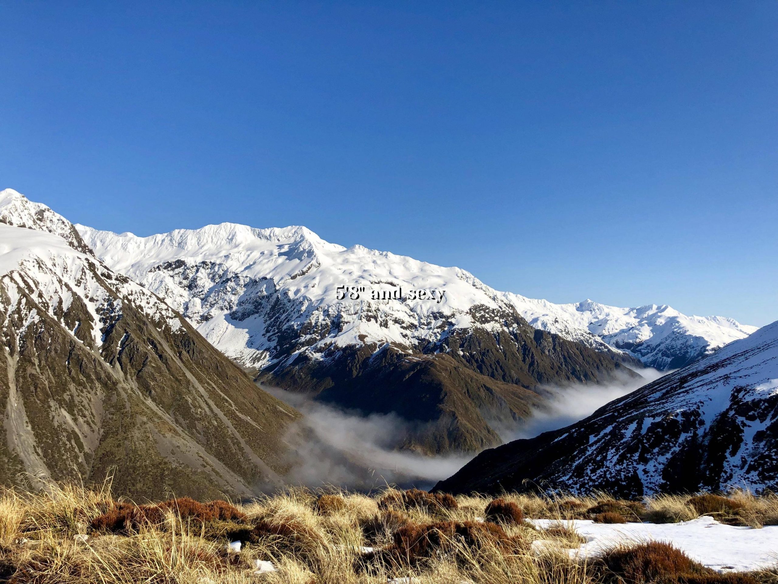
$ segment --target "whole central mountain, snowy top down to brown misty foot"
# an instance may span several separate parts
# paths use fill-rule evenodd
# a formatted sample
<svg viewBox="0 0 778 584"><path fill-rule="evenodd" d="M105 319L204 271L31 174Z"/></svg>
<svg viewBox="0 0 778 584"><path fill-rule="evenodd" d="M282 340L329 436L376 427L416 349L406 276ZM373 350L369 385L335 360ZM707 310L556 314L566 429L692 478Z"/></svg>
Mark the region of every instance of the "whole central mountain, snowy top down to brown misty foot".
<svg viewBox="0 0 778 584"><path fill-rule="evenodd" d="M420 452L499 444L542 403L539 384L635 375L626 354L533 329L464 270L344 248L304 227L78 229L261 382L413 420L419 430L401 442Z"/></svg>

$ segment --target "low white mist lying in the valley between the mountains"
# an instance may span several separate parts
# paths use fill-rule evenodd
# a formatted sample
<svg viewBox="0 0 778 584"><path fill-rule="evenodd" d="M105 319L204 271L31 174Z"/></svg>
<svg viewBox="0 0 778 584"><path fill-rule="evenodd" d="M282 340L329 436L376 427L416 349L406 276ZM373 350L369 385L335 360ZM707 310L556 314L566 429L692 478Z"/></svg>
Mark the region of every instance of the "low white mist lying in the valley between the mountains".
<svg viewBox="0 0 778 584"><path fill-rule="evenodd" d="M547 397L544 406L518 427L503 428L500 435L504 442L510 442L573 424L666 372L643 369L639 373L640 378L624 376L605 385L544 386L540 388ZM303 419L286 437L294 451L286 476L291 484L359 490L387 484L429 488L475 456L425 456L401 449L408 438L422 433L426 424L404 420L394 413L365 415L319 403L300 393L264 389L303 413Z"/></svg>

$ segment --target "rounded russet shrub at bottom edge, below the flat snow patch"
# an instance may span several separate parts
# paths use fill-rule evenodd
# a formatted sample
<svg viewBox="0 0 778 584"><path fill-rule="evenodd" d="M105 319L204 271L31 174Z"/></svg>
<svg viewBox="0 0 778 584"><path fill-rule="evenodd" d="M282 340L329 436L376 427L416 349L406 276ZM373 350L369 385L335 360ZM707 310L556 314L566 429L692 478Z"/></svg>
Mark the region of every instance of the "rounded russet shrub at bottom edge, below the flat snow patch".
<svg viewBox="0 0 778 584"><path fill-rule="evenodd" d="M601 561L611 574L633 584L671 582L683 575L705 572L682 551L660 541L607 551Z"/></svg>

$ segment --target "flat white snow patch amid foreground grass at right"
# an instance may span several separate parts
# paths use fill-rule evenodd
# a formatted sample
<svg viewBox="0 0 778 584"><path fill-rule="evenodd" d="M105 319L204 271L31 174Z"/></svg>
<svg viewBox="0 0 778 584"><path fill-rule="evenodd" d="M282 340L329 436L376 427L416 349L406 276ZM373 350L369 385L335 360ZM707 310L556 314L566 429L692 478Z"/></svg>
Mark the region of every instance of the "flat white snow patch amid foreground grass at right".
<svg viewBox="0 0 778 584"><path fill-rule="evenodd" d="M534 526L559 524L551 519L530 519ZM562 521L587 538L572 555L594 556L619 544L664 541L689 558L717 572L743 572L778 563L778 526L762 529L729 526L709 516L679 523L605 524L576 519Z"/></svg>

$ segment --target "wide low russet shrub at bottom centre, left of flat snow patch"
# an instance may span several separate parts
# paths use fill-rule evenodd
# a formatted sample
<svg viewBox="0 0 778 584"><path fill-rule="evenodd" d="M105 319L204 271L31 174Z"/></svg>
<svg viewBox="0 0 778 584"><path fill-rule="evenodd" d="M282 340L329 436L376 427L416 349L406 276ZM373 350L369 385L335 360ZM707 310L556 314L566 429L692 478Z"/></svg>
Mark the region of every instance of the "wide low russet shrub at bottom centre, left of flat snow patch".
<svg viewBox="0 0 778 584"><path fill-rule="evenodd" d="M398 529L392 544L384 551L384 559L392 563L415 564L439 552L452 552L457 546L478 550L493 547L513 551L519 540L508 537L503 528L494 523L475 521L440 521L430 525L408 523Z"/></svg>

